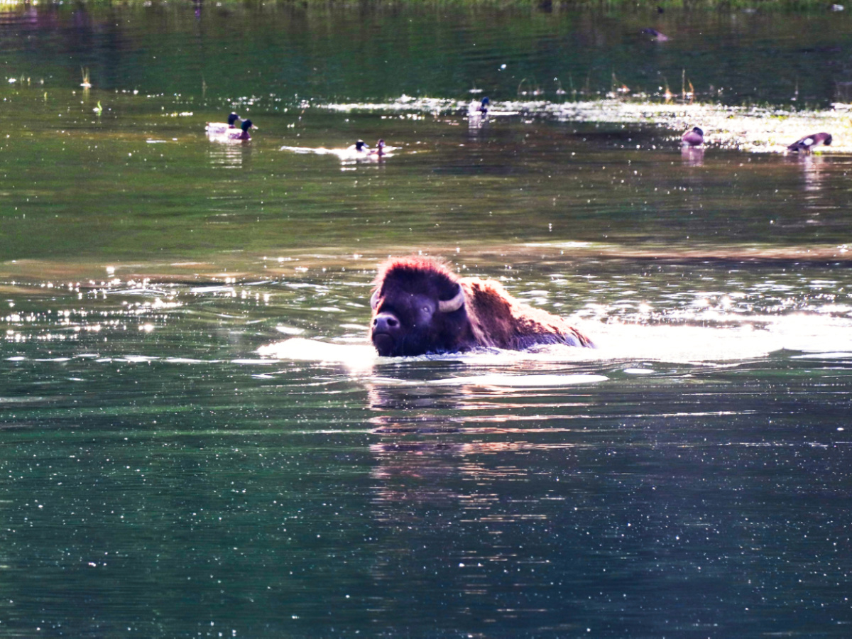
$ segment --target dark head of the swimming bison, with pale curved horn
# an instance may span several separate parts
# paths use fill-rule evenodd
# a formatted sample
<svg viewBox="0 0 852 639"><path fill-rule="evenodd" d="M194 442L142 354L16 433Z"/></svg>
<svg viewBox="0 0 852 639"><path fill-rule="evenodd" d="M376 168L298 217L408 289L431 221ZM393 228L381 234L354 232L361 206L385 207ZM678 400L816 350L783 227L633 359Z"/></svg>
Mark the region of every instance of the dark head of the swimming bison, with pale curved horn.
<svg viewBox="0 0 852 639"><path fill-rule="evenodd" d="M375 285L370 338L383 357L458 351L469 340L463 288L440 262L389 260Z"/></svg>

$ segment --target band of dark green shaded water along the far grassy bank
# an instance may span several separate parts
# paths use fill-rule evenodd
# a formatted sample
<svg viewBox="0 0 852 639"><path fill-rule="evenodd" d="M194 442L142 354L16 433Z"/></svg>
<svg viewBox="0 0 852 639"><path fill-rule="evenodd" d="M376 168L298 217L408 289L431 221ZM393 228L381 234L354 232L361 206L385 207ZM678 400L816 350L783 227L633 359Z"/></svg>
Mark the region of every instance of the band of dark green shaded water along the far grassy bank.
<svg viewBox="0 0 852 639"><path fill-rule="evenodd" d="M385 101L484 89L500 100L561 86L593 94L613 74L634 92L726 103L848 97L849 11L669 9L625 12L423 3L152 3L112 9L12 5L3 20L9 76L195 101ZM653 27L670 39L653 42Z"/></svg>

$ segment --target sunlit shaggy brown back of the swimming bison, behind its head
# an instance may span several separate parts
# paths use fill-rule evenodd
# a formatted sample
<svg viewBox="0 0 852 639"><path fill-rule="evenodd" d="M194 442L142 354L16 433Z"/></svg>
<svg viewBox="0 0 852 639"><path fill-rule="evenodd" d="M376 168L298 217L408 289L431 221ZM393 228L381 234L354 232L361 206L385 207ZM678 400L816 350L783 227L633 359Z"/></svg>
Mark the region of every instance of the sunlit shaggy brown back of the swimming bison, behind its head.
<svg viewBox="0 0 852 639"><path fill-rule="evenodd" d="M591 346L558 315L519 302L493 279L462 278L471 327L480 346L522 349L536 344Z"/></svg>

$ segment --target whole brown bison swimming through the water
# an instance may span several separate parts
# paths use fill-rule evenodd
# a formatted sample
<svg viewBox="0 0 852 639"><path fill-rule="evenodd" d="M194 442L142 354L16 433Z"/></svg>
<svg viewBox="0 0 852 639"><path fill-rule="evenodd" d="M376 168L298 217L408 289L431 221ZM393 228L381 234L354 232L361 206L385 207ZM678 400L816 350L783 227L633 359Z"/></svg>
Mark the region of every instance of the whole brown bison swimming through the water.
<svg viewBox="0 0 852 639"><path fill-rule="evenodd" d="M385 357L477 347L592 346L565 320L518 302L499 282L459 278L427 257L383 262L374 285L370 337Z"/></svg>

